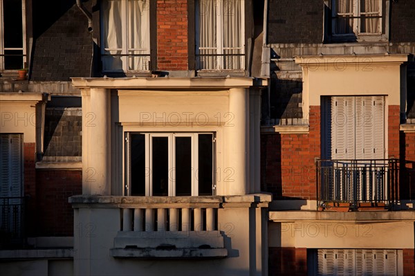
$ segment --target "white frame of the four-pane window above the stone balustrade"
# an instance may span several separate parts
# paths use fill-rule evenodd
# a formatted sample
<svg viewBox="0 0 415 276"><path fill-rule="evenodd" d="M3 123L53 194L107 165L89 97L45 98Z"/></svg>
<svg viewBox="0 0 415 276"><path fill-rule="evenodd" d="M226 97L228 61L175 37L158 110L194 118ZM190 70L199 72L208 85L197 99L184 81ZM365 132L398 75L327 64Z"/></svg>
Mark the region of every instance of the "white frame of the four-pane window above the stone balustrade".
<svg viewBox="0 0 415 276"><path fill-rule="evenodd" d="M169 180L168 180L168 195L167 196L176 196L176 137L190 137L192 139L192 186L191 186L191 196L199 196L199 134L211 134L212 135L212 193L214 192L215 185L215 172L214 160L215 160L215 134L214 132L196 132L196 133L142 133L136 131L128 131L124 133L125 140L129 140L129 134L142 134L145 135L145 167L148 168L148 172L145 175L145 196L153 196L153 183L152 183L152 172L154 172L153 167L153 142L152 138L154 137L167 137L168 138L168 166L169 166ZM131 149L126 147L126 177L125 177L125 190L126 195L131 195L131 172L129 162L131 160Z"/></svg>

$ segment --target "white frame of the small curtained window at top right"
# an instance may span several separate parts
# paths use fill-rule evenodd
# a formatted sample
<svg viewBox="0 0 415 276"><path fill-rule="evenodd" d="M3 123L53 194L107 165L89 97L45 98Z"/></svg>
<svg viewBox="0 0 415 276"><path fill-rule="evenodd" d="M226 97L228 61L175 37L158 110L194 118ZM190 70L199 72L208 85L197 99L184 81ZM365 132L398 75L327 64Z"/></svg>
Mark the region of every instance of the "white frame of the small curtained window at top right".
<svg viewBox="0 0 415 276"><path fill-rule="evenodd" d="M376 14L378 14L378 18L379 18L379 23L378 23L378 32L376 33L361 33L360 32L360 21L362 20L362 16L363 15L370 15L370 14L374 14L375 12L361 12L360 11L360 3L362 0L350 0L353 1L353 12L349 12L349 13L338 13L337 12L337 3L339 0L331 0L331 35L333 37L350 37L351 35L356 35L358 38L359 37L370 37L370 36L380 36L382 35L382 22L383 22L383 17L382 17L382 3L384 1L379 0L377 1L377 3L379 4L379 11L376 12ZM344 1L344 0L342 0ZM344 33L344 34L336 34L335 33L335 24L338 18L338 15L340 16L350 16L353 17L353 33ZM387 21L386 21L387 22Z"/></svg>

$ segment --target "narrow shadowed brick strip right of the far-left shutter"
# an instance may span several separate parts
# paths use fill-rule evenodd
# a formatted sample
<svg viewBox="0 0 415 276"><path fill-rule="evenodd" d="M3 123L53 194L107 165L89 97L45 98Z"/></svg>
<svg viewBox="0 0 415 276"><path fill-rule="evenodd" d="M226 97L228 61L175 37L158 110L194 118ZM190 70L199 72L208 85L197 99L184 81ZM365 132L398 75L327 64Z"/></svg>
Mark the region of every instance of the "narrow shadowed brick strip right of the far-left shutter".
<svg viewBox="0 0 415 276"><path fill-rule="evenodd" d="M36 144L34 142L24 143L24 196L26 196L26 235L34 234L36 219L36 169L35 169L35 151Z"/></svg>

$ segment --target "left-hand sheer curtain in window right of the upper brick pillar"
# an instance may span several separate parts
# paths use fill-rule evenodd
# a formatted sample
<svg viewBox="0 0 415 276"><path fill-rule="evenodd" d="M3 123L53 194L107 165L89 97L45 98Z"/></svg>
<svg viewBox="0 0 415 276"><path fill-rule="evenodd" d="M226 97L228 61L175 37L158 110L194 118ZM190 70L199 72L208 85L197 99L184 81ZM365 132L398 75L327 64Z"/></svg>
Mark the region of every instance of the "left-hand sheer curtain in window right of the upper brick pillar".
<svg viewBox="0 0 415 276"><path fill-rule="evenodd" d="M216 69L216 0L199 1L199 68Z"/></svg>

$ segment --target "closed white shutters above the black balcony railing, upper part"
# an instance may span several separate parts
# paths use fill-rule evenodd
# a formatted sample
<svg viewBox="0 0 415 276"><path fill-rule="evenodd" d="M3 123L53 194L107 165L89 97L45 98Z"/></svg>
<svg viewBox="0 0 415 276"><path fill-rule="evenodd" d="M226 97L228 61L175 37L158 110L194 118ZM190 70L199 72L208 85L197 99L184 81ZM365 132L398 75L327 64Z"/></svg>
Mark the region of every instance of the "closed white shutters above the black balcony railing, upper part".
<svg viewBox="0 0 415 276"><path fill-rule="evenodd" d="M324 105L329 104L326 100ZM331 137L324 149L332 159L385 158L385 97L331 97L331 122L324 121ZM323 107L323 110L327 107Z"/></svg>

